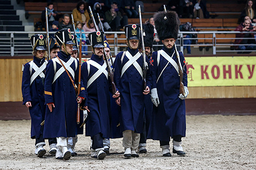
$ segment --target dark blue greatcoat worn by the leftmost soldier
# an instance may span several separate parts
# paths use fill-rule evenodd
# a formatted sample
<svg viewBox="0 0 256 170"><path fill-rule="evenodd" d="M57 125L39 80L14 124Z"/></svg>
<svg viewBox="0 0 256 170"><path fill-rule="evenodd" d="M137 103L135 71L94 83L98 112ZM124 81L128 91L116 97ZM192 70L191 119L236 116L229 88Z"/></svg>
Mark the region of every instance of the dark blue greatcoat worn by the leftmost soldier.
<svg viewBox="0 0 256 170"><path fill-rule="evenodd" d="M34 64L40 67L45 62L45 58L38 59L34 56ZM41 77L35 78L33 83L30 85L32 74L29 70L29 63L25 64L23 75L22 75L22 97L23 105L27 102L31 102L32 106L29 107L29 114L31 115L31 138L39 138L42 134L42 128L40 123L44 121L45 118L45 97L44 97L44 84ZM43 71L45 73L45 70Z"/></svg>

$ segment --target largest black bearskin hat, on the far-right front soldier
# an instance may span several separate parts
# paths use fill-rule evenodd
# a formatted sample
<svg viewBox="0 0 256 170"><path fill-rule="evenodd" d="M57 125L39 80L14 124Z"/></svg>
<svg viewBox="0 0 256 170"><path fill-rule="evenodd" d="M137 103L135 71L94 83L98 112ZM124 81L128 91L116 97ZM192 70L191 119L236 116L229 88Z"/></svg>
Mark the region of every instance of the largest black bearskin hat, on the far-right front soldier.
<svg viewBox="0 0 256 170"><path fill-rule="evenodd" d="M178 39L180 20L174 11L161 11L154 15L155 28L160 40Z"/></svg>

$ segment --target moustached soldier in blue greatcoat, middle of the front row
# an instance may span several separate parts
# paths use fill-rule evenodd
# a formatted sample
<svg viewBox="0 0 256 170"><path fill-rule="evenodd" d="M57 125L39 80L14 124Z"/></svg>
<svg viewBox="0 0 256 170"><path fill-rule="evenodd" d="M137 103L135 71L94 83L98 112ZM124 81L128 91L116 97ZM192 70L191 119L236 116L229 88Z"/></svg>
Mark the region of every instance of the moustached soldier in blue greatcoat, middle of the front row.
<svg viewBox="0 0 256 170"><path fill-rule="evenodd" d="M86 123L86 136L90 136L92 139L92 150L96 152L95 158L102 160L106 156L103 138L111 137L109 119L111 81L108 78L106 61L103 60L103 32L89 33L88 38L93 55L90 60L83 63L81 74L87 91L84 106L90 111ZM115 92L113 97L119 97L119 92Z"/></svg>

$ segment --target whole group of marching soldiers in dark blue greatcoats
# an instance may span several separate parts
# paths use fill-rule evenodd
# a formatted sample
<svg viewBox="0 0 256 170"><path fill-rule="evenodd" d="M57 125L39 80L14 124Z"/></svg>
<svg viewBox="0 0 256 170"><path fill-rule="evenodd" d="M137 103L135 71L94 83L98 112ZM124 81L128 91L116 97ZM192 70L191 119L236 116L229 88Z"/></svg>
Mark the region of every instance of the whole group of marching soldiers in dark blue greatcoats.
<svg viewBox="0 0 256 170"><path fill-rule="evenodd" d="M59 30L54 34L56 40L50 39L48 61L46 36L31 36L34 56L23 68L22 95L31 114L31 138L35 138L39 158L46 154L45 139L56 159L76 155L77 135L83 134L84 122L92 158L104 159L109 154L109 138L120 137L125 158L147 153L148 138L160 141L163 156L172 156L171 137L172 152L185 155L181 138L186 132L184 99L188 90L185 59L175 49L179 18L173 11L162 11L154 20L163 48L153 52L154 26L150 23L143 24L143 29L129 24L124 27L127 51L118 53L114 61L104 33L89 33L93 54L81 66L81 79L78 46L70 29ZM109 61L113 82L108 60L113 61Z"/></svg>

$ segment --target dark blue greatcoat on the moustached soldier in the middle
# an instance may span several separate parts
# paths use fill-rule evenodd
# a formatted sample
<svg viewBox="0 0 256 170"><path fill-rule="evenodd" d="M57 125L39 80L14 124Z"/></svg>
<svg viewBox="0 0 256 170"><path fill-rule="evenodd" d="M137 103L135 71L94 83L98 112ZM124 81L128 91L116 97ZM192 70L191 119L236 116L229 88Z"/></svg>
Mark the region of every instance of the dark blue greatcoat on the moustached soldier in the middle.
<svg viewBox="0 0 256 170"><path fill-rule="evenodd" d="M97 62L97 64L101 66L105 62L102 56L99 57L95 54L92 55L90 60ZM86 88L88 80L98 71L98 68L90 65L90 72L88 75L87 62L83 63L81 72L84 87ZM88 121L86 123L86 136L92 137L101 133L103 138L111 137L109 122L109 114L111 110L109 85L110 83L106 75L101 73L101 75L87 88L85 105L88 106L90 112L88 113Z"/></svg>

